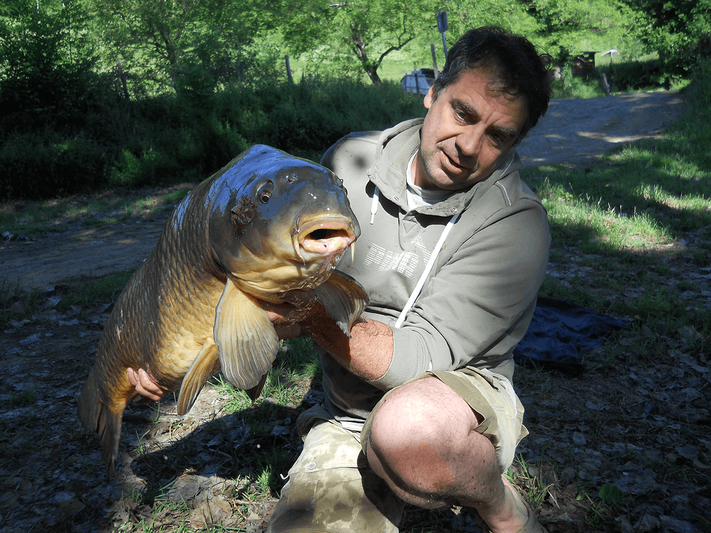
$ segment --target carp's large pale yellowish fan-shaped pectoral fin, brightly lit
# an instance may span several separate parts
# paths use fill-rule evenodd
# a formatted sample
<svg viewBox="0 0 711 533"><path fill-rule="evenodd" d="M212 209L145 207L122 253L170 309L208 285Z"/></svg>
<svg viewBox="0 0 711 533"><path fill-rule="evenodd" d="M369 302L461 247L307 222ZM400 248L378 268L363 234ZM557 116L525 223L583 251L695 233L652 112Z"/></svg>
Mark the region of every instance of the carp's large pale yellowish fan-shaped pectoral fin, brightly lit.
<svg viewBox="0 0 711 533"><path fill-rule="evenodd" d="M223 374L238 389L259 384L279 352L267 312L231 279L215 309L213 335Z"/></svg>

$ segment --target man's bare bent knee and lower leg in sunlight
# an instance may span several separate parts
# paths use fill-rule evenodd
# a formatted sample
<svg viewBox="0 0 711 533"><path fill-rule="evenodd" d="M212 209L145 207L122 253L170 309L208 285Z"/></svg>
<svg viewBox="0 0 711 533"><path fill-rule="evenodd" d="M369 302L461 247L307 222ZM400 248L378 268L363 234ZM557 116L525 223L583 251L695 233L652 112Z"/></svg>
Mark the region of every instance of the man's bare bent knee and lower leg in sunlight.
<svg viewBox="0 0 711 533"><path fill-rule="evenodd" d="M447 384L423 377L380 404L364 434L365 453L402 500L473 507L493 532L518 532L529 513L505 485L493 444L475 431L482 422Z"/></svg>

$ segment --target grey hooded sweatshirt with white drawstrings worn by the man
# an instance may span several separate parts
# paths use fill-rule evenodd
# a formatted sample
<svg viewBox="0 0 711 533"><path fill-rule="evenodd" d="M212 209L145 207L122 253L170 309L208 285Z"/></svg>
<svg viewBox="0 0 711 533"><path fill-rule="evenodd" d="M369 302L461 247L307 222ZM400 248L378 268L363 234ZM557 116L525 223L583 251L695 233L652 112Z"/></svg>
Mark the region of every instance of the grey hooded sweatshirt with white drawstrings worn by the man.
<svg viewBox="0 0 711 533"><path fill-rule="evenodd" d="M511 379L513 349L528 328L545 275L547 213L520 180L513 150L471 188L408 208L407 166L421 129L422 119L415 119L350 134L321 160L343 179L361 228L355 260L346 254L338 269L363 284L370 297L363 315L393 327L394 341L389 369L373 382L322 355L326 407L338 419L367 418L384 391L428 370L483 367ZM456 222L437 252L453 215ZM394 327L433 252L422 290Z"/></svg>

